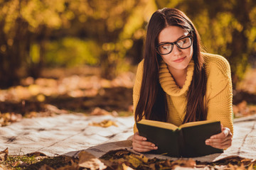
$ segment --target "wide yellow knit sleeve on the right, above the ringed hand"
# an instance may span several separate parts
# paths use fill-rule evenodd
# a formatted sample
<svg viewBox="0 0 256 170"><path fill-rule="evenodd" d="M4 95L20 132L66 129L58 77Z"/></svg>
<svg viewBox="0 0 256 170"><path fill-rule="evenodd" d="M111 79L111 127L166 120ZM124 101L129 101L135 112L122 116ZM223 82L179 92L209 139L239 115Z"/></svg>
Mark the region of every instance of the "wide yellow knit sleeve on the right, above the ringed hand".
<svg viewBox="0 0 256 170"><path fill-rule="evenodd" d="M208 120L220 120L224 127L233 133L232 81L230 65L220 55L205 57L206 74L206 104L208 106Z"/></svg>

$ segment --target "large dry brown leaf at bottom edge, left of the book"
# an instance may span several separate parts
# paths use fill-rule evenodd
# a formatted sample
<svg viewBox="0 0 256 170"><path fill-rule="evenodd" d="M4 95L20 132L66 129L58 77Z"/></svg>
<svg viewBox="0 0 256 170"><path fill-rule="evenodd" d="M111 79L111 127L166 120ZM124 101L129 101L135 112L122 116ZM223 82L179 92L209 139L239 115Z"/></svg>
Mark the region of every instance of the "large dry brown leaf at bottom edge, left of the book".
<svg viewBox="0 0 256 170"><path fill-rule="evenodd" d="M88 168L91 170L102 170L106 169L107 166L103 164L100 159L97 159L94 155L90 154L89 152L82 151L78 154L80 167Z"/></svg>

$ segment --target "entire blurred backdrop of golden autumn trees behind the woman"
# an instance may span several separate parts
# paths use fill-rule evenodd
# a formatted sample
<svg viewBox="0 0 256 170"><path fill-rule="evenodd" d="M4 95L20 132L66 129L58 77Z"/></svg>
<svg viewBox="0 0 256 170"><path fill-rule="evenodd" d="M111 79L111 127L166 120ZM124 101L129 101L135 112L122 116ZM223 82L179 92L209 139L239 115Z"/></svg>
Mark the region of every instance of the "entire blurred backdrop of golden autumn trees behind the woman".
<svg viewBox="0 0 256 170"><path fill-rule="evenodd" d="M235 85L256 49L253 0L0 0L0 86L38 77L46 61L99 64L111 79L124 59L141 60L146 23L163 7L192 19L208 52L229 60Z"/></svg>

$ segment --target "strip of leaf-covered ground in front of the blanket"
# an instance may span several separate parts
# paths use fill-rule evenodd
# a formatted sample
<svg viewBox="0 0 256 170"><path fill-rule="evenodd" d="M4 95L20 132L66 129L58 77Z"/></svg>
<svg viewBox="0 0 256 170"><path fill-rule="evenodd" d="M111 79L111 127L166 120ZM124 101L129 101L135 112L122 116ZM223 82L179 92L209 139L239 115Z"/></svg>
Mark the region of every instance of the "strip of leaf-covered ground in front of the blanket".
<svg viewBox="0 0 256 170"><path fill-rule="evenodd" d="M190 169L256 169L256 160L230 157L218 162L196 162L193 159L149 159L143 154L134 154L125 149L108 152L100 157L82 151L78 158L68 156L47 157L41 152L33 152L26 155L9 156L8 149L0 152L0 169L178 169L186 167Z"/></svg>

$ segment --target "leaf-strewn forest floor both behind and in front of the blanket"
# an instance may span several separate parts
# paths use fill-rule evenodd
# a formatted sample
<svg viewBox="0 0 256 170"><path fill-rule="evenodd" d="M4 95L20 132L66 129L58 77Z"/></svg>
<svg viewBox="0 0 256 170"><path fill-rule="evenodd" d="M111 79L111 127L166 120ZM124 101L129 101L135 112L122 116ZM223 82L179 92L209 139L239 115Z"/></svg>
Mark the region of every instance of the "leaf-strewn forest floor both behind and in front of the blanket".
<svg viewBox="0 0 256 170"><path fill-rule="evenodd" d="M39 79L28 77L21 81L20 86L0 89L0 125L10 125L23 118L69 113L132 115L134 78L134 72L126 72L111 81L101 79L100 69L95 67L46 69ZM250 69L245 79L238 84L233 103L235 118L256 113L256 69ZM87 164L98 165L90 166L91 169L174 169L180 166L193 169L256 169L255 160L239 157L202 164L193 159L171 162L147 159L128 152L113 152L111 157L115 157L115 161L107 162L105 158L107 166L99 166L100 159L85 162L88 157L92 156L86 153L82 153L79 158L47 157L42 153L9 155L7 149L0 152L0 162L3 164L0 169L81 169L88 167Z"/></svg>

